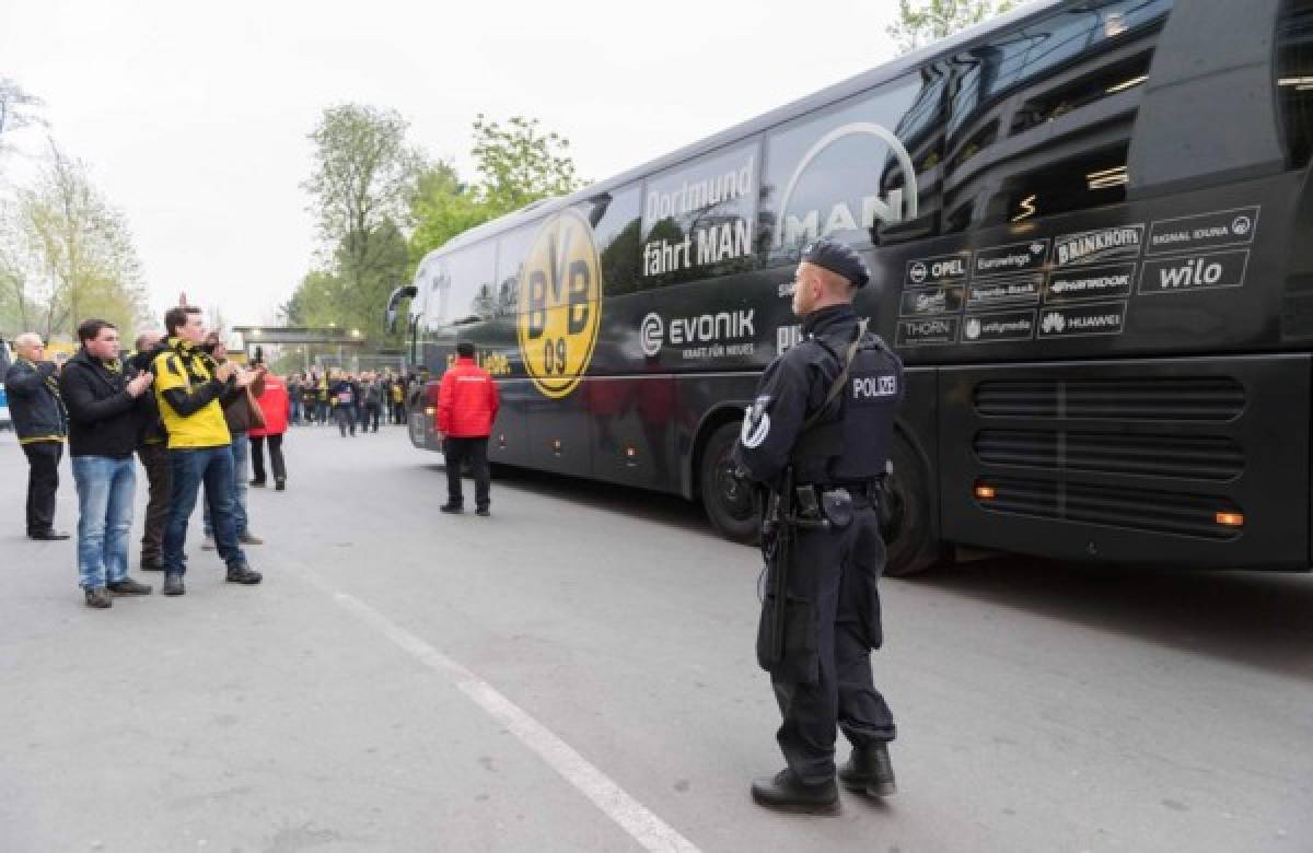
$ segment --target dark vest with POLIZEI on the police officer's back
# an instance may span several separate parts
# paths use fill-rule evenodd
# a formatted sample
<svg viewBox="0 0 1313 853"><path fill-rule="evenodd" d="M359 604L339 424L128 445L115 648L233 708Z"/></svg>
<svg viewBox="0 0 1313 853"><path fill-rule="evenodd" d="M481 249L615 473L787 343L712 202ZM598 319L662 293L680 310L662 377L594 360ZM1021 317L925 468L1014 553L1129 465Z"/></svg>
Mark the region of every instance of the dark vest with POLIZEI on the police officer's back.
<svg viewBox="0 0 1313 853"><path fill-rule="evenodd" d="M852 339L815 340L834 354L842 370ZM893 450L902 381L902 360L877 336L865 335L838 399L794 445L796 482L856 483L884 474Z"/></svg>

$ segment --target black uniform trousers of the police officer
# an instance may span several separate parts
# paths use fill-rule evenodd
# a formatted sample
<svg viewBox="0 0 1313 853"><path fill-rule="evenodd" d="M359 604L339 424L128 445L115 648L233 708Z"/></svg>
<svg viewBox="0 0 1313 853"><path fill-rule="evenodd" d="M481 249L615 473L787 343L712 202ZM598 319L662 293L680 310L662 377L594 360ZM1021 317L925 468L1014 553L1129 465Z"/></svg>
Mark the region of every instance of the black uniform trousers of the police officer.
<svg viewBox="0 0 1313 853"><path fill-rule="evenodd" d="M834 778L835 726L853 747L894 739L894 719L871 675L880 648L885 543L874 509L861 500L843 530L800 530L790 559L790 596L815 602L817 680L772 676L784 723L776 734L789 768L806 783Z"/></svg>

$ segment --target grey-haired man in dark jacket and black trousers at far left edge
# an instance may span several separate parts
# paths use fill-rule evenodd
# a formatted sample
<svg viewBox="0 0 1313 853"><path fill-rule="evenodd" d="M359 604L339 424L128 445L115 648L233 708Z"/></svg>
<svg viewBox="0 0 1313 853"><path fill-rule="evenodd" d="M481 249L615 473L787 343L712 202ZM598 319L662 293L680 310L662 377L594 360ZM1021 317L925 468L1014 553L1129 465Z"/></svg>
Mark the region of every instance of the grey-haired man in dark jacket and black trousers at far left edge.
<svg viewBox="0 0 1313 853"><path fill-rule="evenodd" d="M55 365L45 360L46 345L39 335L20 335L13 346L17 358L4 385L13 429L28 457L28 537L67 539L67 533L54 528L59 461L68 434L68 412L59 396Z"/></svg>

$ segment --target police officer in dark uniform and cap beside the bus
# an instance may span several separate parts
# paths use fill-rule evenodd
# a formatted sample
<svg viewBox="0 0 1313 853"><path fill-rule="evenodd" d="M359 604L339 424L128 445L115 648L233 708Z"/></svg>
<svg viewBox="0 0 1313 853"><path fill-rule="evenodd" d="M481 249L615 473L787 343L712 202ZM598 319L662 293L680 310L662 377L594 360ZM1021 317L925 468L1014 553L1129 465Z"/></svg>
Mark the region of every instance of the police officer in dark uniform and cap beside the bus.
<svg viewBox="0 0 1313 853"><path fill-rule="evenodd" d="M894 720L871 651L882 638L877 478L892 450L902 361L852 308L868 281L840 243L802 251L793 311L804 340L762 375L735 447L739 474L769 491L763 550L776 592L763 602L758 657L784 715L776 739L788 766L755 781L752 798L772 808L838 812L836 724L852 743L839 780L872 797L894 793Z"/></svg>

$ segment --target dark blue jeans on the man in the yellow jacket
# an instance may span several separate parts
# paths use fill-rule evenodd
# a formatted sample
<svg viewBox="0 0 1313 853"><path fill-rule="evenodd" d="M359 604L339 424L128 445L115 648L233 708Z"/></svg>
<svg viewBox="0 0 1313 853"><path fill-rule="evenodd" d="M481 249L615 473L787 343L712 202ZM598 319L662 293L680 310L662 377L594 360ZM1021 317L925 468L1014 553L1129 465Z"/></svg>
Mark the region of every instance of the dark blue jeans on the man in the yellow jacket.
<svg viewBox="0 0 1313 853"><path fill-rule="evenodd" d="M214 521L214 541L219 556L230 568L243 566L246 554L238 545L236 499L232 491L232 447L173 449L168 451L173 468L168 524L164 525L164 572L186 572L186 520L196 509L196 495L205 483L205 501Z"/></svg>

